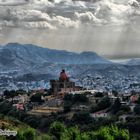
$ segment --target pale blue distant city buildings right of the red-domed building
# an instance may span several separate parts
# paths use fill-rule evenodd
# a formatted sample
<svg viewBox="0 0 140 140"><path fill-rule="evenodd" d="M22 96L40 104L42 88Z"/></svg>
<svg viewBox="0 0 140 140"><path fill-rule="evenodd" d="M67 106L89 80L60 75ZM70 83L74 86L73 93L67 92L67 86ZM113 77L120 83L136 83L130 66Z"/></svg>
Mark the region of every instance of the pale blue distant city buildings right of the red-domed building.
<svg viewBox="0 0 140 140"><path fill-rule="evenodd" d="M112 90L116 90L119 93L140 92L140 79L133 75L116 75L116 77L113 75L90 75L78 80L78 84L87 89L96 89L105 92L111 92Z"/></svg>

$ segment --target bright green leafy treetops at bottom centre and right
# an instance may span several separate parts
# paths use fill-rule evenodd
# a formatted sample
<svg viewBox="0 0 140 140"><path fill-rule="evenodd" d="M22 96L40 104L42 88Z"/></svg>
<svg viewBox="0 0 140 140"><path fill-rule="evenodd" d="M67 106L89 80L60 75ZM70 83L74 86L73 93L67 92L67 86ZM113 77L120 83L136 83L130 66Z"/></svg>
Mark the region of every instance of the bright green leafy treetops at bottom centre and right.
<svg viewBox="0 0 140 140"><path fill-rule="evenodd" d="M117 126L101 127L96 131L81 132L78 127L66 127L55 122L50 127L50 134L57 140L129 140L129 131Z"/></svg>

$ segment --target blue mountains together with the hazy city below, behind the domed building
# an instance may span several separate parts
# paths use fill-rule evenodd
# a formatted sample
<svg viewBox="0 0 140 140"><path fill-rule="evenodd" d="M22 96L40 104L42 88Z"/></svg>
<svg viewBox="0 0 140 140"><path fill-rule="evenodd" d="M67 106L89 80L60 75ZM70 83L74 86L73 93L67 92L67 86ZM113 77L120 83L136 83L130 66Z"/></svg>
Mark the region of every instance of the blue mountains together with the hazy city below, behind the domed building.
<svg viewBox="0 0 140 140"><path fill-rule="evenodd" d="M49 80L58 79L62 69L77 85L91 88L124 89L140 79L139 58L116 63L95 52L75 53L18 43L0 46L2 91L27 88L32 82L34 88L49 87Z"/></svg>

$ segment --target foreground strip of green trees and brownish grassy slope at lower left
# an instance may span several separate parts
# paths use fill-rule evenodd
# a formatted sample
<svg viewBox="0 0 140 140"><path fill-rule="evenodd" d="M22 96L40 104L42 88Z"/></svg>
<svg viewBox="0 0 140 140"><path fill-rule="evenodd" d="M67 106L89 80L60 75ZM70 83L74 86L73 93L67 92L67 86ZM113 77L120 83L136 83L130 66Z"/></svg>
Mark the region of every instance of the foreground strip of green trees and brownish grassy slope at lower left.
<svg viewBox="0 0 140 140"><path fill-rule="evenodd" d="M21 123L20 121L1 116L3 130L15 130L17 135L1 136L0 140L129 140L128 130L119 129L117 126L101 127L96 131L81 132L75 127L66 127L61 122L54 122L50 125L47 134L40 133L36 129Z"/></svg>

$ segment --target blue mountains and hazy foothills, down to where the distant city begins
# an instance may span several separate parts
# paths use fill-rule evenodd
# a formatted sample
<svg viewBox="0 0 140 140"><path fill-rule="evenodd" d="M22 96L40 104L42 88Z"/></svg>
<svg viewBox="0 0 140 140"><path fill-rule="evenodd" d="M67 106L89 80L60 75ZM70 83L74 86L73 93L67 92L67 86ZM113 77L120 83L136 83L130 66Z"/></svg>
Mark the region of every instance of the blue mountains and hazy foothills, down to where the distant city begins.
<svg viewBox="0 0 140 140"><path fill-rule="evenodd" d="M70 75L127 75L139 74L140 59L132 59L119 64L109 61L95 52L68 52L39 47L32 44L9 43L0 46L0 71L16 71L18 79L28 79L26 74L37 78L58 76L62 68ZM108 75L111 73L110 75ZM42 76L45 74L45 76ZM40 78L39 78L40 79ZM41 79L40 79L41 80Z"/></svg>

